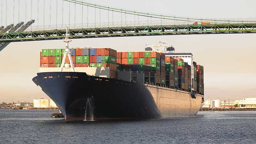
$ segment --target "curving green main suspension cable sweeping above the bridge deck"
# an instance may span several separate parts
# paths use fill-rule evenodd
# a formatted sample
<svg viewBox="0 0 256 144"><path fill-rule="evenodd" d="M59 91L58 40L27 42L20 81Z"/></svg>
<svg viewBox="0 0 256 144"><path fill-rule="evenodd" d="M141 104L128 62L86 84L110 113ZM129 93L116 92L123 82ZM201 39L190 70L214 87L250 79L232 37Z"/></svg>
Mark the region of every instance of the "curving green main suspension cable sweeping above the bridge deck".
<svg viewBox="0 0 256 144"><path fill-rule="evenodd" d="M113 12L120 12L120 13L126 12L127 14L144 16L144 17L152 17L152 18L157 18L157 19L179 20L179 21L189 21L189 22L199 22L202 20L206 20L206 21L214 22L214 19L186 18L186 17L168 16L168 15L154 14L154 13L147 13L147 12L136 12L136 11L119 9L119 8L113 8L113 7L109 7L109 6L103 6L103 5L99 5L99 4L91 4L88 2L82 2L82 1L78 1L78 0L64 0L64 1L67 1L70 3L82 4L82 5L86 5L89 7L104 9L104 10L113 11ZM256 22L256 20L218 20L218 21L222 21L222 22Z"/></svg>

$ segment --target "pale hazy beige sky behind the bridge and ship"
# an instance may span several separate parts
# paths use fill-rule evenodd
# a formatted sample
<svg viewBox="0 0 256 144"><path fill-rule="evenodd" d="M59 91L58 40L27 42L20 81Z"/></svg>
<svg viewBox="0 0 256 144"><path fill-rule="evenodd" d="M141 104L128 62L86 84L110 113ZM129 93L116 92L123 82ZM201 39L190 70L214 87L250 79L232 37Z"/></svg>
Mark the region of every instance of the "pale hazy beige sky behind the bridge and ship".
<svg viewBox="0 0 256 144"><path fill-rule="evenodd" d="M60 3L60 1L61 0L58 2ZM1 2L3 2L3 5L5 6L5 0L0 0L0 4ZM27 0L27 2L30 1ZM42 1L40 2L42 3ZM49 0L45 0L45 2L47 3ZM129 10L164 13L184 17L256 18L256 10L254 8L256 1L253 0L245 0L243 3L238 0L217 0L214 4L205 0L198 0L196 3L194 1L185 0L130 0L129 3L125 4L123 4L123 1L116 2L114 0L109 0L108 3L103 0L93 2ZM54 0L52 0L52 11L50 11L52 12L52 15L56 15L56 10L53 12L53 7L56 7L56 4L54 4ZM17 4L15 7L17 7ZM29 3L27 7L30 7ZM10 8L12 8L12 6ZM20 5L20 9L22 8L24 8L24 5ZM81 9L78 9L78 6L76 8L77 14ZM37 8L33 7L32 9L34 12ZM86 10L84 9L84 11ZM88 10L88 12L89 11L93 12L94 10L91 9ZM28 10L27 16L25 17L24 14L20 13L20 20L25 18L28 20L31 15L30 13L31 11ZM8 14L7 19L5 19L5 13L3 12L2 18L0 18L0 20L2 20L0 21L0 24L5 25L5 23L11 23L13 21L12 13ZM100 20L106 21L106 12L101 11L101 14ZM61 24L62 20L60 20L61 16L59 11L58 15L59 19L57 20L57 23ZM88 21L91 23L94 22L94 13L88 13L88 15ZM14 17L14 21L17 21L17 15ZM37 15L33 13L32 17L37 17ZM77 14L77 23L82 23L80 17L81 15ZM116 18L117 16L114 15L114 17ZM50 21L51 24L56 22L56 20L54 22L53 16L51 20L46 20L48 16L45 16L44 23L41 18L42 13L39 14L39 22L36 22L33 25L40 26L44 23L50 24ZM86 17L84 17L84 19L87 20ZM7 20L7 22L5 22L5 20ZM115 20L118 21L118 19ZM129 20L134 19L133 17L127 16L127 21ZM140 18L140 20L145 19ZM64 23L68 23L66 19L63 21ZM72 23L75 20L73 19L70 21ZM99 21L99 17L97 17L96 21ZM119 52L144 51L145 44L162 41L174 46L176 52L193 53L194 61L196 61L197 64L204 66L205 99L208 99L209 97L209 99L212 100L218 98L220 98L220 100L240 100L247 97L256 97L256 67L254 63L256 53L255 37L256 34L219 34L91 38L73 39L70 43L70 47L110 47ZM65 47L65 44L62 40L50 40L14 42L4 48L4 50L0 52L0 61L2 65L0 68L0 102L17 102L23 100L32 102L33 98L47 98L46 94L39 90L39 88L32 82L32 78L39 72L39 52L41 49L63 47Z"/></svg>

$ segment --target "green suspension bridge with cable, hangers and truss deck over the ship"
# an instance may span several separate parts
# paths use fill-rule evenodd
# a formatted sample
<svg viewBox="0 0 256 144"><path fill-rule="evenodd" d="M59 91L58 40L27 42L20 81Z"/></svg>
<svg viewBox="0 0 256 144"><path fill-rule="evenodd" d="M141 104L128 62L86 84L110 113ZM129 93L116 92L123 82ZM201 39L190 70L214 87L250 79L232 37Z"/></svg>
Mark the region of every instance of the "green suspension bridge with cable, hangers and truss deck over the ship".
<svg viewBox="0 0 256 144"><path fill-rule="evenodd" d="M45 1L48 5L46 5ZM33 4L32 0L30 4L28 3L29 0L25 0L25 8L23 4L22 10L20 0L13 0L13 3L10 4L13 13L10 15L7 11L10 9L9 2L5 0L4 3L4 0L2 0L1 3L1 22L3 25L3 4L5 4L6 27L0 27L0 51L10 42L63 39L66 36L66 27L69 28L69 38L71 39L256 33L256 19L249 18L208 19L180 17L125 10L92 4L84 0L44 0L43 3L41 0L37 0L36 4ZM18 7L18 10L15 9L15 6ZM28 10L29 6L30 10ZM41 12L42 10L43 12ZM54 13L53 10L56 10L56 12ZM21 11L25 11L25 16L20 15ZM15 16L16 13L18 13L18 16ZM30 20L27 20L28 13L30 13ZM14 26L14 22L17 21L16 17L18 18L18 24ZM28 22L25 24L21 22L21 17ZM43 17L43 20L39 19L39 17ZM91 22L93 17L94 21ZM7 18L12 18L12 24L7 24ZM34 18L36 19L34 20ZM116 18L118 20L115 20ZM71 21L73 21L73 24ZM39 26L40 22L43 25Z"/></svg>

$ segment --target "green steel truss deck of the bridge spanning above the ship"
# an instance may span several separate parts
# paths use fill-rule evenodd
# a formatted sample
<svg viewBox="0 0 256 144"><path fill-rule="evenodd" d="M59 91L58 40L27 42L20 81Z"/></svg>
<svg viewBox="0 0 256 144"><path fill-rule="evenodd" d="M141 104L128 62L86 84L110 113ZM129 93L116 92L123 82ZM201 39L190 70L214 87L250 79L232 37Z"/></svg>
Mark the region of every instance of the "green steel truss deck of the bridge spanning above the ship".
<svg viewBox="0 0 256 144"><path fill-rule="evenodd" d="M69 38L256 33L256 23L69 29ZM66 30L0 33L0 42L63 39Z"/></svg>

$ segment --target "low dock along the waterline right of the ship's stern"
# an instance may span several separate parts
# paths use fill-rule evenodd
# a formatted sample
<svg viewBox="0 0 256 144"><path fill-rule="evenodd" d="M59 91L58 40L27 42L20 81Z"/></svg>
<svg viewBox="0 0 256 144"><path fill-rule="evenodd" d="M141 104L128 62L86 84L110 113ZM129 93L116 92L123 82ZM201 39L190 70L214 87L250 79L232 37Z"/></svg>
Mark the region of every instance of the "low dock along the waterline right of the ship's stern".
<svg viewBox="0 0 256 144"><path fill-rule="evenodd" d="M256 108L201 108L199 111L256 111Z"/></svg>

